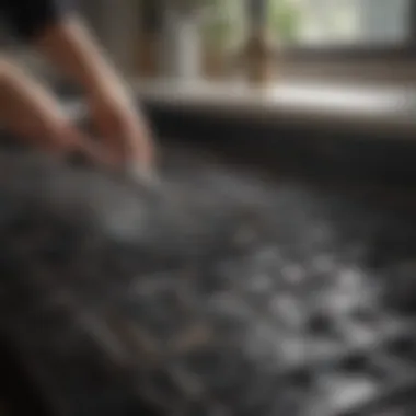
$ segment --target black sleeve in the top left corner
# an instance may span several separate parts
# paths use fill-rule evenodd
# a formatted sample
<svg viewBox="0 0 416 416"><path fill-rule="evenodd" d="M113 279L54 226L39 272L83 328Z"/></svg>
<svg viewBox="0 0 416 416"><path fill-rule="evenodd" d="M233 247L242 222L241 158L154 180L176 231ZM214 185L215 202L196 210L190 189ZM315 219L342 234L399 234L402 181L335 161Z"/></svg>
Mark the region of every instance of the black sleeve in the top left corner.
<svg viewBox="0 0 416 416"><path fill-rule="evenodd" d="M72 0L0 0L1 14L24 41L35 38L72 9Z"/></svg>

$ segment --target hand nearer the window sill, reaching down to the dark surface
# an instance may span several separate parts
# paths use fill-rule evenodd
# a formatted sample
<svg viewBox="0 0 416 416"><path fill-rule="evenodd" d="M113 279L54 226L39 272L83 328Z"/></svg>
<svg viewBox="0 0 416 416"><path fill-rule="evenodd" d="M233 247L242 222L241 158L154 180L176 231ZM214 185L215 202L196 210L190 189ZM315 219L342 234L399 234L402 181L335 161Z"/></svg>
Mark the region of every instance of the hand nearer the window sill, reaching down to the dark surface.
<svg viewBox="0 0 416 416"><path fill-rule="evenodd" d="M90 112L105 150L116 164L153 164L153 142L145 117L117 84L90 94Z"/></svg>

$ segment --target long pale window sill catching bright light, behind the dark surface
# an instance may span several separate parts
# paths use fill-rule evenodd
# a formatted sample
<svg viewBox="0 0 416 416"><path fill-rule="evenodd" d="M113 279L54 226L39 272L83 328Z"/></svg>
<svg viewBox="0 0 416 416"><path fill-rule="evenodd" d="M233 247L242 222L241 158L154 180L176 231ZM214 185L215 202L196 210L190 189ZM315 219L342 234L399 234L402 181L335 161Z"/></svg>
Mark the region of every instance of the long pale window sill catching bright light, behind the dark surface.
<svg viewBox="0 0 416 416"><path fill-rule="evenodd" d="M282 81L266 89L239 82L135 81L143 102L218 117L303 123L416 137L416 89Z"/></svg>

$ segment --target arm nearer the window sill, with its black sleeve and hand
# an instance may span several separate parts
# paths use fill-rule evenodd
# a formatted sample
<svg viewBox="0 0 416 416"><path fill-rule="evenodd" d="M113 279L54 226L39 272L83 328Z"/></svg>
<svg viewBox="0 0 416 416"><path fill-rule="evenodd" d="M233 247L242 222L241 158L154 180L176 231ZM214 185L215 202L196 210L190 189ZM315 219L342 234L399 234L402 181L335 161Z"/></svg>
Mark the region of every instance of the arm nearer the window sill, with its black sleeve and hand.
<svg viewBox="0 0 416 416"><path fill-rule="evenodd" d="M18 33L86 92L97 132L115 160L149 166L153 146L147 123L70 0L0 0L1 7Z"/></svg>

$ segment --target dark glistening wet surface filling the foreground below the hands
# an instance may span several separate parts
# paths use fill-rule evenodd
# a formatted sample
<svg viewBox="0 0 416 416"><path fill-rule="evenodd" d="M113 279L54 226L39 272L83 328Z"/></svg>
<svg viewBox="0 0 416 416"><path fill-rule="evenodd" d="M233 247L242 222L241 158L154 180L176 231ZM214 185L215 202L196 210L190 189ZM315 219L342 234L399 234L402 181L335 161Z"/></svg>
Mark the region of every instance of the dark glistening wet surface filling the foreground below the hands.
<svg viewBox="0 0 416 416"><path fill-rule="evenodd" d="M207 160L172 152L149 189L0 154L0 325L56 408L414 415L406 198Z"/></svg>

